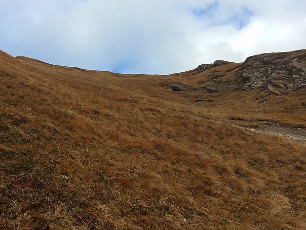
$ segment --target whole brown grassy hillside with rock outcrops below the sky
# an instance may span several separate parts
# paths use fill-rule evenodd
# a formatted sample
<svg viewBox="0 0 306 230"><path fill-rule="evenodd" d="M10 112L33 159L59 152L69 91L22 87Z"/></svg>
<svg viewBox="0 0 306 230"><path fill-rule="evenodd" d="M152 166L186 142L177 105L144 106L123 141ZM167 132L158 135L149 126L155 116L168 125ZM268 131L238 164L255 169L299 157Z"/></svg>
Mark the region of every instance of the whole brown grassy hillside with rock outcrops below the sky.
<svg viewBox="0 0 306 230"><path fill-rule="evenodd" d="M172 75L0 51L0 229L306 229L305 81L306 50Z"/></svg>

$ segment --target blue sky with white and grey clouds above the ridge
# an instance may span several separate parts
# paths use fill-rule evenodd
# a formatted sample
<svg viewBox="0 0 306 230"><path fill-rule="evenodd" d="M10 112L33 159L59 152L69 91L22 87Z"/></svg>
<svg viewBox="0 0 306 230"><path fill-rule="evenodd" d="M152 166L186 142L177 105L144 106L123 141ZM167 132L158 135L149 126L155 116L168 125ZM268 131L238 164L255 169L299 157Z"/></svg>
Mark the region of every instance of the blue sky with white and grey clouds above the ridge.
<svg viewBox="0 0 306 230"><path fill-rule="evenodd" d="M55 65L171 74L305 48L305 0L0 0L0 49Z"/></svg>

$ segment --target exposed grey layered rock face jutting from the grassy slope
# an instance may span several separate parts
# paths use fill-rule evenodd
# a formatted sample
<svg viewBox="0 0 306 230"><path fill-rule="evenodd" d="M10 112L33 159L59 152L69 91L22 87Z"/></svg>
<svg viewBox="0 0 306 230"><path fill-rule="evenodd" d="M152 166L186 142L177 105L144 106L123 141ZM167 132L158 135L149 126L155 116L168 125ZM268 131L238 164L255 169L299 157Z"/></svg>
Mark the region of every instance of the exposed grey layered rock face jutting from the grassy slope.
<svg viewBox="0 0 306 230"><path fill-rule="evenodd" d="M240 70L238 85L251 91L263 87L276 94L306 88L306 52L298 57L286 53L261 54L248 57Z"/></svg>

